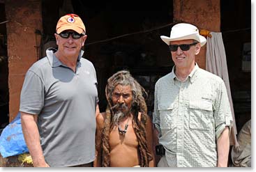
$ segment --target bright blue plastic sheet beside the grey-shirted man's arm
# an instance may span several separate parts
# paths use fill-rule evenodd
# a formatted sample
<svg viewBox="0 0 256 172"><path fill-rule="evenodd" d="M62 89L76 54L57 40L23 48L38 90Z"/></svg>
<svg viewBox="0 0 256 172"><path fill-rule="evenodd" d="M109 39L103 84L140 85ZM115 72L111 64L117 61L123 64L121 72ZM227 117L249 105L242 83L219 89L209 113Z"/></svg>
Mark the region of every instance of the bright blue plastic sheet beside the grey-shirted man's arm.
<svg viewBox="0 0 256 172"><path fill-rule="evenodd" d="M29 153L22 133L20 112L17 114L16 118L3 129L3 132L1 133L0 153L2 157Z"/></svg>

